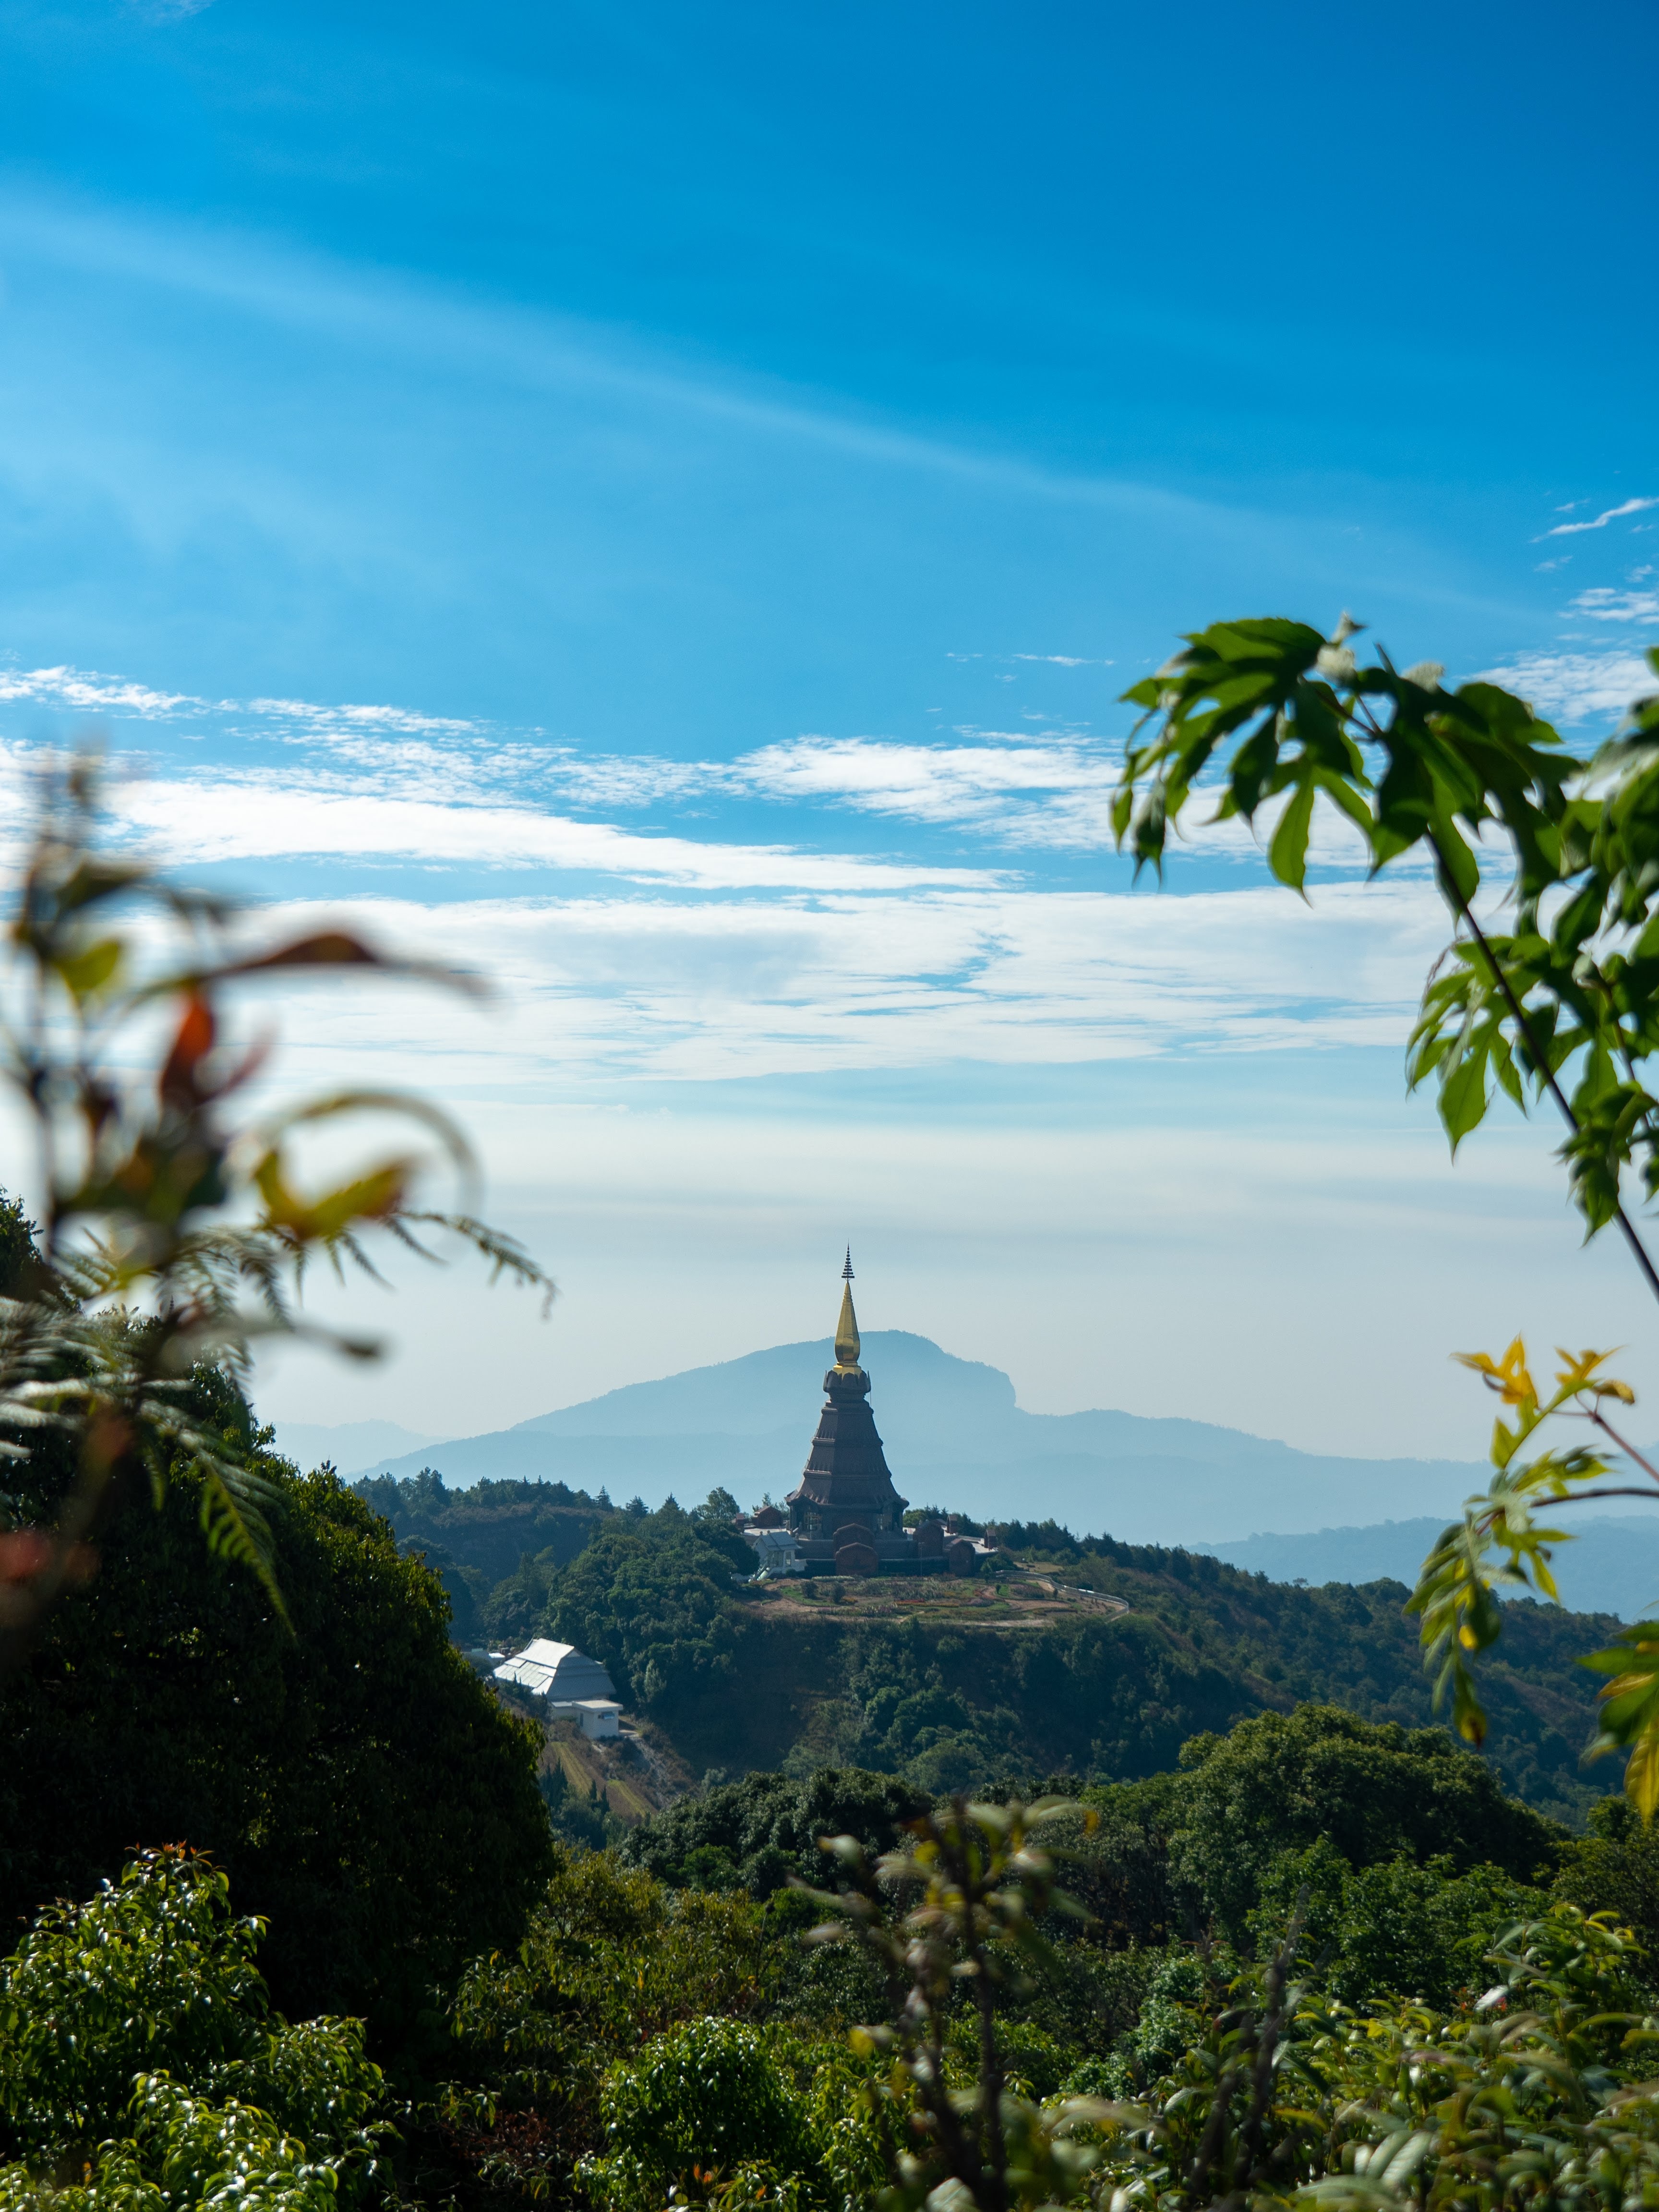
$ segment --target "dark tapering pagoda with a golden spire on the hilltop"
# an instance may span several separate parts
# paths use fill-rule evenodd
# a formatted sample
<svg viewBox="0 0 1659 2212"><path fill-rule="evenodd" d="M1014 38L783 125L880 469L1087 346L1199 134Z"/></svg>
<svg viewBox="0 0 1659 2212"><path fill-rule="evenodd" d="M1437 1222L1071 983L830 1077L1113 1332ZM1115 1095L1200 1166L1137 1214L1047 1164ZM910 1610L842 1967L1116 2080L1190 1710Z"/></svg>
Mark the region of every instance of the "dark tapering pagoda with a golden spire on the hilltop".
<svg viewBox="0 0 1659 2212"><path fill-rule="evenodd" d="M916 1573L916 1535L887 1471L869 1411L869 1376L858 1365L858 1316L852 1307L852 1248L841 1270L836 1365L823 1378L825 1407L805 1473L785 1504L807 1575ZM931 1531L929 1531L931 1535ZM927 1546L936 1551L933 1544ZM942 1564L942 1562L940 1562Z"/></svg>

